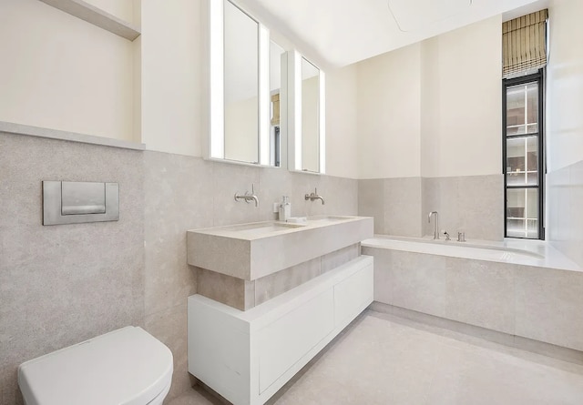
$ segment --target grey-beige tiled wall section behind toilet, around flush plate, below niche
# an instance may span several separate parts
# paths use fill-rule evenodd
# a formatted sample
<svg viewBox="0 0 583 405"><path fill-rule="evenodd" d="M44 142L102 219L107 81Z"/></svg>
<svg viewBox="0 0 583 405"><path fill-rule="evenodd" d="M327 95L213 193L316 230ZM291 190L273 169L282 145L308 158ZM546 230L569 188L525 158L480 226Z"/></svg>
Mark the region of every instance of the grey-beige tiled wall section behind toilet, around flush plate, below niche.
<svg viewBox="0 0 583 405"><path fill-rule="evenodd" d="M0 134L0 403L16 367L144 325L143 154ZM119 220L42 226L42 180L119 183Z"/></svg>

